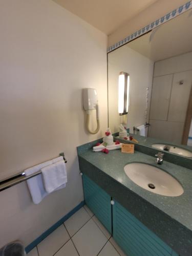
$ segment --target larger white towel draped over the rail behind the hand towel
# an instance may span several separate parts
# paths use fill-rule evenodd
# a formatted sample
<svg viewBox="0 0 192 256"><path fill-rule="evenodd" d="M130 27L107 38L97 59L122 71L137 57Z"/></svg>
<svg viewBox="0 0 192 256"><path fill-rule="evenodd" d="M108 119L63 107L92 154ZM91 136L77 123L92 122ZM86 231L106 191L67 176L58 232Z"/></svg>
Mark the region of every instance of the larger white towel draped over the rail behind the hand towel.
<svg viewBox="0 0 192 256"><path fill-rule="evenodd" d="M63 159L63 157L57 157L50 161L30 167L25 170L25 176L28 177L31 174L39 172L41 170L41 168L44 168L45 166L56 163L58 161L61 161L62 159ZM48 195L48 193L46 192L46 190L44 188L44 183L42 182L41 174L27 180L27 185L29 187L29 191L30 191L30 194L31 194L34 204L40 203L40 201ZM63 187L65 187L65 186L63 185L63 186L59 187L58 189L63 188Z"/></svg>

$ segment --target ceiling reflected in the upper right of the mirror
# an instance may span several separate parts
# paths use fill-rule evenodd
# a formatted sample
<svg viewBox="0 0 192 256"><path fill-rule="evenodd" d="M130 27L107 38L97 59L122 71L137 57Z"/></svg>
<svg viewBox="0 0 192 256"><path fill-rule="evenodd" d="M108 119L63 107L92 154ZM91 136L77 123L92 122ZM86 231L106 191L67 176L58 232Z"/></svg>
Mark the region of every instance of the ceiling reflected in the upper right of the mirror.
<svg viewBox="0 0 192 256"><path fill-rule="evenodd" d="M154 61L192 51L192 11L185 12L126 45Z"/></svg>

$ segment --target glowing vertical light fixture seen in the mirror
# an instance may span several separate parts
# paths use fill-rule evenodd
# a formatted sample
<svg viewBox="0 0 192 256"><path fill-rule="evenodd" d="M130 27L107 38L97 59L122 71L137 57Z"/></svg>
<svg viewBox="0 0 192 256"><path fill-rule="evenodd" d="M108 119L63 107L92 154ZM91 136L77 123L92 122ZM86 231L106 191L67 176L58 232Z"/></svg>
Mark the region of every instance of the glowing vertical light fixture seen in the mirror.
<svg viewBox="0 0 192 256"><path fill-rule="evenodd" d="M119 73L119 95L118 95L118 112L119 115L126 115L129 108L130 93L130 75L126 72Z"/></svg>

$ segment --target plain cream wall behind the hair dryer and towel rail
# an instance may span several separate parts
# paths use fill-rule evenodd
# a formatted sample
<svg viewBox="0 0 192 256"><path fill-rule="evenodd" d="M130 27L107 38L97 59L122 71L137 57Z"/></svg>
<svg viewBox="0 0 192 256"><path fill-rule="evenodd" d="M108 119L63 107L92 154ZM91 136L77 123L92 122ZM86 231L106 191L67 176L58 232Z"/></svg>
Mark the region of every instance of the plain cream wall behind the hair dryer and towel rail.
<svg viewBox="0 0 192 256"><path fill-rule="evenodd" d="M0 247L28 245L83 200L76 146L107 127L106 36L51 0L2 0L0 179L65 152L69 182L39 205L26 183L1 192ZM100 132L84 129L81 89L96 88Z"/></svg>

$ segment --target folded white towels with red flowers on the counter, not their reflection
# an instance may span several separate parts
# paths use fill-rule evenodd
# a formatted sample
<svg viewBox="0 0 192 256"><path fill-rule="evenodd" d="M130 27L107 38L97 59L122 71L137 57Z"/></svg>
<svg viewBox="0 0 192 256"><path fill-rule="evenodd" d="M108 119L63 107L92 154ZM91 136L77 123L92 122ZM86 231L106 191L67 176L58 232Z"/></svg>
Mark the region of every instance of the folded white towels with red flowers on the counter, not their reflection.
<svg viewBox="0 0 192 256"><path fill-rule="evenodd" d="M115 142L113 141L113 136L111 134L111 129L108 128L108 130L106 130L105 132L105 136L103 137L103 142L102 143L97 143L94 147L93 147L93 151L94 152L103 152L105 154L108 154L109 151L111 150L118 150L119 148L121 148L121 143L116 140Z"/></svg>

